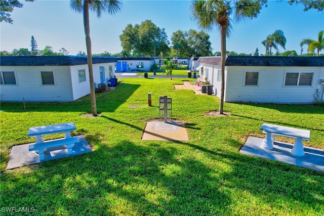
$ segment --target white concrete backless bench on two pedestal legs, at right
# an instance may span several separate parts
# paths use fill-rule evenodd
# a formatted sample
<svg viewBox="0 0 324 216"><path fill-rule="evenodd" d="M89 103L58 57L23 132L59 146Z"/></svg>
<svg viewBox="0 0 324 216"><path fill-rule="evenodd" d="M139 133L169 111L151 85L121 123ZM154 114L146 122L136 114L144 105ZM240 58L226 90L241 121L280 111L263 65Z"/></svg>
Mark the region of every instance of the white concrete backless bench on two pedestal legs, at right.
<svg viewBox="0 0 324 216"><path fill-rule="evenodd" d="M291 153L296 156L305 155L303 140L310 139L310 131L275 124L262 124L260 129L266 133L261 148L268 150L273 149L274 136L290 137L295 139L295 144Z"/></svg>

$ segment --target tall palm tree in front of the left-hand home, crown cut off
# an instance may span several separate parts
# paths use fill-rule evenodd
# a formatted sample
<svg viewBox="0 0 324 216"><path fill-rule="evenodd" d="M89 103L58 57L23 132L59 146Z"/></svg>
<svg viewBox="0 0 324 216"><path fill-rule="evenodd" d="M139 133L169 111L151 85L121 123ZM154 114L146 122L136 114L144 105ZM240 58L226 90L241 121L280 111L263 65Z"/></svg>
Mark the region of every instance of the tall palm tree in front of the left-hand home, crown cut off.
<svg viewBox="0 0 324 216"><path fill-rule="evenodd" d="M121 2L117 0L70 0L70 8L76 12L83 12L83 21L86 34L86 46L87 46L87 60L89 69L89 81L90 81L90 97L92 115L97 116L95 83L93 79L92 69L92 51L91 51L91 38L90 38L90 22L89 22L89 9L97 14L100 18L103 12L107 12L112 15L121 10Z"/></svg>

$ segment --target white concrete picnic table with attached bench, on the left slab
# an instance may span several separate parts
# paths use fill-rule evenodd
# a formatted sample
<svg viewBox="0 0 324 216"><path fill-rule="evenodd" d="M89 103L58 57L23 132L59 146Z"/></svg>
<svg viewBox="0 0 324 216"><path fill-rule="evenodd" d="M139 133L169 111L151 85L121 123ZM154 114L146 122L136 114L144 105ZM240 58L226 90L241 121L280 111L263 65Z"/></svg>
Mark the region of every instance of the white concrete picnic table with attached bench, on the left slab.
<svg viewBox="0 0 324 216"><path fill-rule="evenodd" d="M39 158L41 160L44 160L44 151L51 147L63 146L64 148L68 149L70 154L70 152L72 152L71 148L74 146L74 143L78 142L77 138L72 139L71 137L71 131L74 129L76 129L76 127L73 122L30 127L28 130L28 136L36 137L36 142L35 144L32 144L33 146L31 145L32 147L29 148L29 151L39 153ZM59 133L64 133L65 139L44 142L43 136Z"/></svg>

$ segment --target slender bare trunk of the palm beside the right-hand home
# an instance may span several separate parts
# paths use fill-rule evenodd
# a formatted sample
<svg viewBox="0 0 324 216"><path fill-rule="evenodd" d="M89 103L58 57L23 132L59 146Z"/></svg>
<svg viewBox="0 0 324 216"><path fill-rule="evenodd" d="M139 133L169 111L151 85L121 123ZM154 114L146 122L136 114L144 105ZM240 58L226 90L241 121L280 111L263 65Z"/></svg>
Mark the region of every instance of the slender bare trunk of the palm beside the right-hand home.
<svg viewBox="0 0 324 216"><path fill-rule="evenodd" d="M219 113L223 114L225 89L225 60L226 60L226 25L221 25L221 98Z"/></svg>

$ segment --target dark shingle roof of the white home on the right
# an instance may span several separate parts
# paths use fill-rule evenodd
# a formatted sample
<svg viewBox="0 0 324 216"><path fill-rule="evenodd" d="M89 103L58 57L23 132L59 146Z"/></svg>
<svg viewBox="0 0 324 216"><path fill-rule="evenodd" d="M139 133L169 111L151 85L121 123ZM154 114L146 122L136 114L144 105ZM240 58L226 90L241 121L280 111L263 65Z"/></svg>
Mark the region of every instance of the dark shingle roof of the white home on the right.
<svg viewBox="0 0 324 216"><path fill-rule="evenodd" d="M200 57L199 63L220 65L221 57ZM306 66L323 67L324 57L227 56L226 66Z"/></svg>

